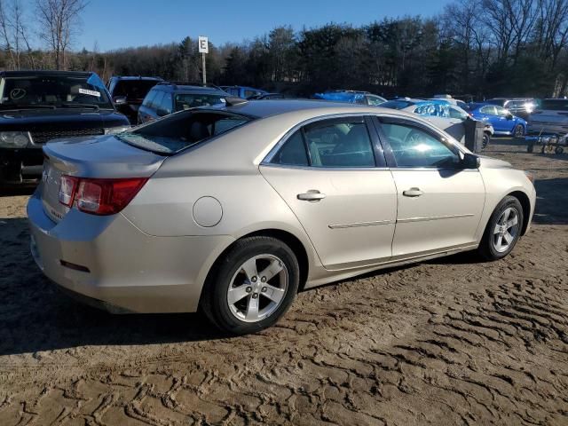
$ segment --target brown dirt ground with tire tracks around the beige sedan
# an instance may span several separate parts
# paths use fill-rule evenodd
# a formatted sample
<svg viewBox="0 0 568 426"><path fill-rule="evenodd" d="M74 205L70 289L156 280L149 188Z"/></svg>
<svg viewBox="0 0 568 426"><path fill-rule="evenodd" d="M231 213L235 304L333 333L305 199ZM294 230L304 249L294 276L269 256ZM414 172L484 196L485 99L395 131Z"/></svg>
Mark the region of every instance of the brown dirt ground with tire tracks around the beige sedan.
<svg viewBox="0 0 568 426"><path fill-rule="evenodd" d="M28 255L28 195L0 197L0 424L568 424L568 155L488 151L538 179L511 256L309 290L238 338L59 294Z"/></svg>

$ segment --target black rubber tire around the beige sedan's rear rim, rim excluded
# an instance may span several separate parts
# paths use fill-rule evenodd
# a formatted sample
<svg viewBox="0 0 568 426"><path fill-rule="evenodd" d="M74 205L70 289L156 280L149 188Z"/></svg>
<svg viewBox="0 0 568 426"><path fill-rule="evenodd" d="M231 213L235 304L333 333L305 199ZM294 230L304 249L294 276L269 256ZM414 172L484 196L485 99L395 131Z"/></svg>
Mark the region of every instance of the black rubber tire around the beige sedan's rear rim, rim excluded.
<svg viewBox="0 0 568 426"><path fill-rule="evenodd" d="M275 256L281 260L288 272L288 287L280 304L270 316L256 322L246 322L237 318L231 311L227 293L241 266L260 255ZM275 238L257 236L237 241L214 267L216 271L209 276L203 288L200 309L213 324L231 335L247 335L271 327L288 311L296 297L300 282L300 267L296 255L288 245ZM245 298L248 297L250 296ZM258 300L260 299L258 297Z"/></svg>

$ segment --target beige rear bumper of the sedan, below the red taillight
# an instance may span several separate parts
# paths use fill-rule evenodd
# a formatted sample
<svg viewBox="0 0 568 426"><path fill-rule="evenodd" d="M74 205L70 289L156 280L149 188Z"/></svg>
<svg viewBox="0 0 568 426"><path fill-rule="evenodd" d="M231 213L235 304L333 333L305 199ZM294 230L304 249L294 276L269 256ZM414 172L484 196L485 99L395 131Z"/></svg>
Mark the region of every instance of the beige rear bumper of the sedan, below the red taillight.
<svg viewBox="0 0 568 426"><path fill-rule="evenodd" d="M154 237L121 214L70 210L59 224L28 201L31 252L61 288L109 312L195 312L211 264L228 236Z"/></svg>

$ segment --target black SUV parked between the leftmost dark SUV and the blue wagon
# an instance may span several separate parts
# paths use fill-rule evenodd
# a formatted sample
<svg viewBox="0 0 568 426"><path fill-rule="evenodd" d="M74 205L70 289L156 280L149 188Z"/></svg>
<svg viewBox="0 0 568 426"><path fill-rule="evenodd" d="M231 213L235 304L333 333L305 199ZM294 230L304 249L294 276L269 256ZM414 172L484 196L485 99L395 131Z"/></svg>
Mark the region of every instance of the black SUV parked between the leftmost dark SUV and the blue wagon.
<svg viewBox="0 0 568 426"><path fill-rule="evenodd" d="M138 108L148 91L160 82L160 77L116 76L108 81L107 87L116 109L126 115L132 124L136 124Z"/></svg>

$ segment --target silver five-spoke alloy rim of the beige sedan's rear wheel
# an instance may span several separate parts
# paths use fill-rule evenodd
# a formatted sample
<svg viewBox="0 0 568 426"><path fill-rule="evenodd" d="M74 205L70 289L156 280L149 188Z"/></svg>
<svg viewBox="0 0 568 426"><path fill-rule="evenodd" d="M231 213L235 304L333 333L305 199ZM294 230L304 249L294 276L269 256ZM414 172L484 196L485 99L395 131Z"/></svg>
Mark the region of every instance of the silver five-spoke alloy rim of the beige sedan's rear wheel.
<svg viewBox="0 0 568 426"><path fill-rule="evenodd" d="M227 304L233 316L257 322L272 315L288 290L288 269L280 258L259 255L241 264L227 290Z"/></svg>

